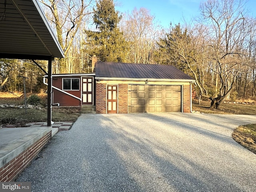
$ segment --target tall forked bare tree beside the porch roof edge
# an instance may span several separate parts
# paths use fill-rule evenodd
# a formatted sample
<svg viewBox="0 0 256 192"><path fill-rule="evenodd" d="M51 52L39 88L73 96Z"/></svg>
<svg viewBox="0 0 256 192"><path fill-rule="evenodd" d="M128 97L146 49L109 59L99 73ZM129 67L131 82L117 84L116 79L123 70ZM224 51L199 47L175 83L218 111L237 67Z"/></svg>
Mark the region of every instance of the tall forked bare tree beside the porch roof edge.
<svg viewBox="0 0 256 192"><path fill-rule="evenodd" d="M80 26L85 22L84 18L92 13L92 0L41 0L40 2L44 5L48 19L54 24L64 55L72 57L70 48L75 45L74 38L77 32L82 30ZM62 65L57 66L57 73L70 71L72 66L65 59L57 63Z"/></svg>

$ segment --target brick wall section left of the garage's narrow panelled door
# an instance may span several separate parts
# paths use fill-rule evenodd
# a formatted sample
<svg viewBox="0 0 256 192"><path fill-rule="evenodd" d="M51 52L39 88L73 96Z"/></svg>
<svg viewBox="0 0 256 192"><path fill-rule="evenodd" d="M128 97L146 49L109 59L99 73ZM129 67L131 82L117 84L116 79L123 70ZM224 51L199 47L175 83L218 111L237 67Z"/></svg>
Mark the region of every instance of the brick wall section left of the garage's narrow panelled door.
<svg viewBox="0 0 256 192"><path fill-rule="evenodd" d="M96 113L106 113L106 84L96 83Z"/></svg>

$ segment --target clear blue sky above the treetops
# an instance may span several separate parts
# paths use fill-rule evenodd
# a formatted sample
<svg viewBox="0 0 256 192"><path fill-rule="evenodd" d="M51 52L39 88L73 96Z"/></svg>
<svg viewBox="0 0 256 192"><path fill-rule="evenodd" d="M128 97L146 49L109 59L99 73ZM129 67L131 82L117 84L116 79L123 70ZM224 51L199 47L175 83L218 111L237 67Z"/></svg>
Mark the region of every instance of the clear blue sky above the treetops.
<svg viewBox="0 0 256 192"><path fill-rule="evenodd" d="M172 24L182 24L184 19L190 21L194 16L198 16L200 2L202 0L115 0L116 10L120 12L131 12L135 7L137 9L144 7L150 10L150 14L155 16L165 28ZM248 0L246 3L250 15L256 17L256 0Z"/></svg>

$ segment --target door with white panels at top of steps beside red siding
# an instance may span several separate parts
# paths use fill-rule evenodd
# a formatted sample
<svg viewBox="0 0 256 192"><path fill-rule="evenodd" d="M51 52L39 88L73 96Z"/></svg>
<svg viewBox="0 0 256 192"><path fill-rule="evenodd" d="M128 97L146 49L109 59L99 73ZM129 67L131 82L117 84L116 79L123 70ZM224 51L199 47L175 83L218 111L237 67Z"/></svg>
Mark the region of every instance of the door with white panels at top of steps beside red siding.
<svg viewBox="0 0 256 192"><path fill-rule="evenodd" d="M82 104L92 105L93 77L82 77Z"/></svg>

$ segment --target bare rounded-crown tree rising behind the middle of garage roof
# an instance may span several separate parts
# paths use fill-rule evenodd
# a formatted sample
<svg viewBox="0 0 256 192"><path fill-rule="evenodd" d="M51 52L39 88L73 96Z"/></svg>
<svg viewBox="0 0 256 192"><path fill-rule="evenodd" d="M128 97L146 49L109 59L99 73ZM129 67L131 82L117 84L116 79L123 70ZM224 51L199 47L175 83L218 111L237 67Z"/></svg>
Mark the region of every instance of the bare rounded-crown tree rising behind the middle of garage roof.
<svg viewBox="0 0 256 192"><path fill-rule="evenodd" d="M120 28L130 43L129 62L153 63L160 26L150 11L134 8L131 14L123 17Z"/></svg>

